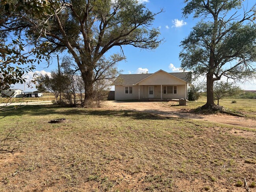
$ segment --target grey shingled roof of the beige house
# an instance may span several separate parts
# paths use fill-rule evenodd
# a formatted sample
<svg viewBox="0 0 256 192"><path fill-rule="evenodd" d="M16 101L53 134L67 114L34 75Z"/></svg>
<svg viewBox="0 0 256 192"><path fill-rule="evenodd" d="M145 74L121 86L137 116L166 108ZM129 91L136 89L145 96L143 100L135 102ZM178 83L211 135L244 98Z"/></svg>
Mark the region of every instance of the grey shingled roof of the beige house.
<svg viewBox="0 0 256 192"><path fill-rule="evenodd" d="M159 70L159 71L165 72L164 70ZM159 72L159 71L157 71L157 72ZM155 72L155 73L157 73L157 72ZM135 85L139 81L142 81L143 79L146 79L155 73L121 74L114 81L114 85ZM192 76L191 76L192 73L191 72L174 72L174 73L168 73L168 74L173 75L176 78L181 79L183 81L186 81L187 83L191 83L191 81L192 81Z"/></svg>

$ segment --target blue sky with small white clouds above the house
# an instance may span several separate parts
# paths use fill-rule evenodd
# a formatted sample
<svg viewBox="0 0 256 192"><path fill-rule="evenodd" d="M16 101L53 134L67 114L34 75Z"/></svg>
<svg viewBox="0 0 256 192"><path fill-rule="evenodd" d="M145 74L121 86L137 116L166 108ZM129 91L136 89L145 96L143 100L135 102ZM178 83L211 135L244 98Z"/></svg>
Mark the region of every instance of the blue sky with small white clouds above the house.
<svg viewBox="0 0 256 192"><path fill-rule="evenodd" d="M251 6L255 2L254 0L247 1ZM187 37L191 28L198 22L198 19L193 19L193 15L189 18L182 18L181 9L185 6L183 0L140 0L140 2L145 3L147 8L154 13L159 12L161 8L164 9L163 13L156 16L153 25L156 28L160 28L160 38L164 39L164 41L156 50L152 51L125 46L123 50L126 55L126 61L118 64L119 70L122 70L123 74L135 74L145 71L154 73L160 69L167 72L178 72L180 67L180 42ZM120 52L120 48L111 50L108 55L115 52ZM54 59L48 68L46 68L45 63L40 63L35 71L37 73L48 73L56 68L58 68L57 59ZM32 75L33 73L29 73L26 78L29 80ZM256 89L255 83L256 81L247 82L241 87L247 90ZM24 85L15 85L15 88L24 89ZM35 87L32 89L35 89Z"/></svg>

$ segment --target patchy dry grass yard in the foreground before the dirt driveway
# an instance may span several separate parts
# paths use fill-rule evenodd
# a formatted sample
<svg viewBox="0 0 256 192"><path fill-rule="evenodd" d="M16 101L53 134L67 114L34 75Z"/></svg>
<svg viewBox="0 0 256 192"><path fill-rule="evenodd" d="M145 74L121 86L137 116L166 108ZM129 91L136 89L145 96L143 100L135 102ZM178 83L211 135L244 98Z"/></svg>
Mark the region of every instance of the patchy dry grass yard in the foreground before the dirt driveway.
<svg viewBox="0 0 256 192"><path fill-rule="evenodd" d="M67 123L49 124L54 118ZM244 178L256 191L253 128L48 105L0 120L1 138L16 124L19 138L30 140L1 154L2 191L244 192Z"/></svg>

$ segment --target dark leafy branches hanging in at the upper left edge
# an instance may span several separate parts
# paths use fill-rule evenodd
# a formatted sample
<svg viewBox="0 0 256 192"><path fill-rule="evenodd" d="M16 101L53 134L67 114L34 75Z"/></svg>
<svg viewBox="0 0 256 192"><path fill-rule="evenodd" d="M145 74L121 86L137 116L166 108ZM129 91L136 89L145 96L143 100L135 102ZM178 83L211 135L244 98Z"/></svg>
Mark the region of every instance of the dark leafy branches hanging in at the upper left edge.
<svg viewBox="0 0 256 192"><path fill-rule="evenodd" d="M28 23L21 23L28 10L32 17L44 18L54 13L50 9L52 4L47 0L0 1L0 90L9 89L11 84L25 83L24 74L35 69L35 63L44 58L45 50L29 47L33 43L24 37Z"/></svg>

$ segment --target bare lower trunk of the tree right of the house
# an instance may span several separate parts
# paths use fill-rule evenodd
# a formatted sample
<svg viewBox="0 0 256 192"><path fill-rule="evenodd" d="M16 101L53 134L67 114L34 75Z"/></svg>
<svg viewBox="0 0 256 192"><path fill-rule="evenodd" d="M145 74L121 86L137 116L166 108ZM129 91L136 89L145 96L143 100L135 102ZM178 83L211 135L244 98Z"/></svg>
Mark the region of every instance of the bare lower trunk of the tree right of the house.
<svg viewBox="0 0 256 192"><path fill-rule="evenodd" d="M207 94L207 102L205 105L202 106L202 109L208 109L212 108L215 103L214 103L214 96L213 96L213 76L211 74L206 75L206 80L207 80L207 89L206 89L206 94Z"/></svg>

